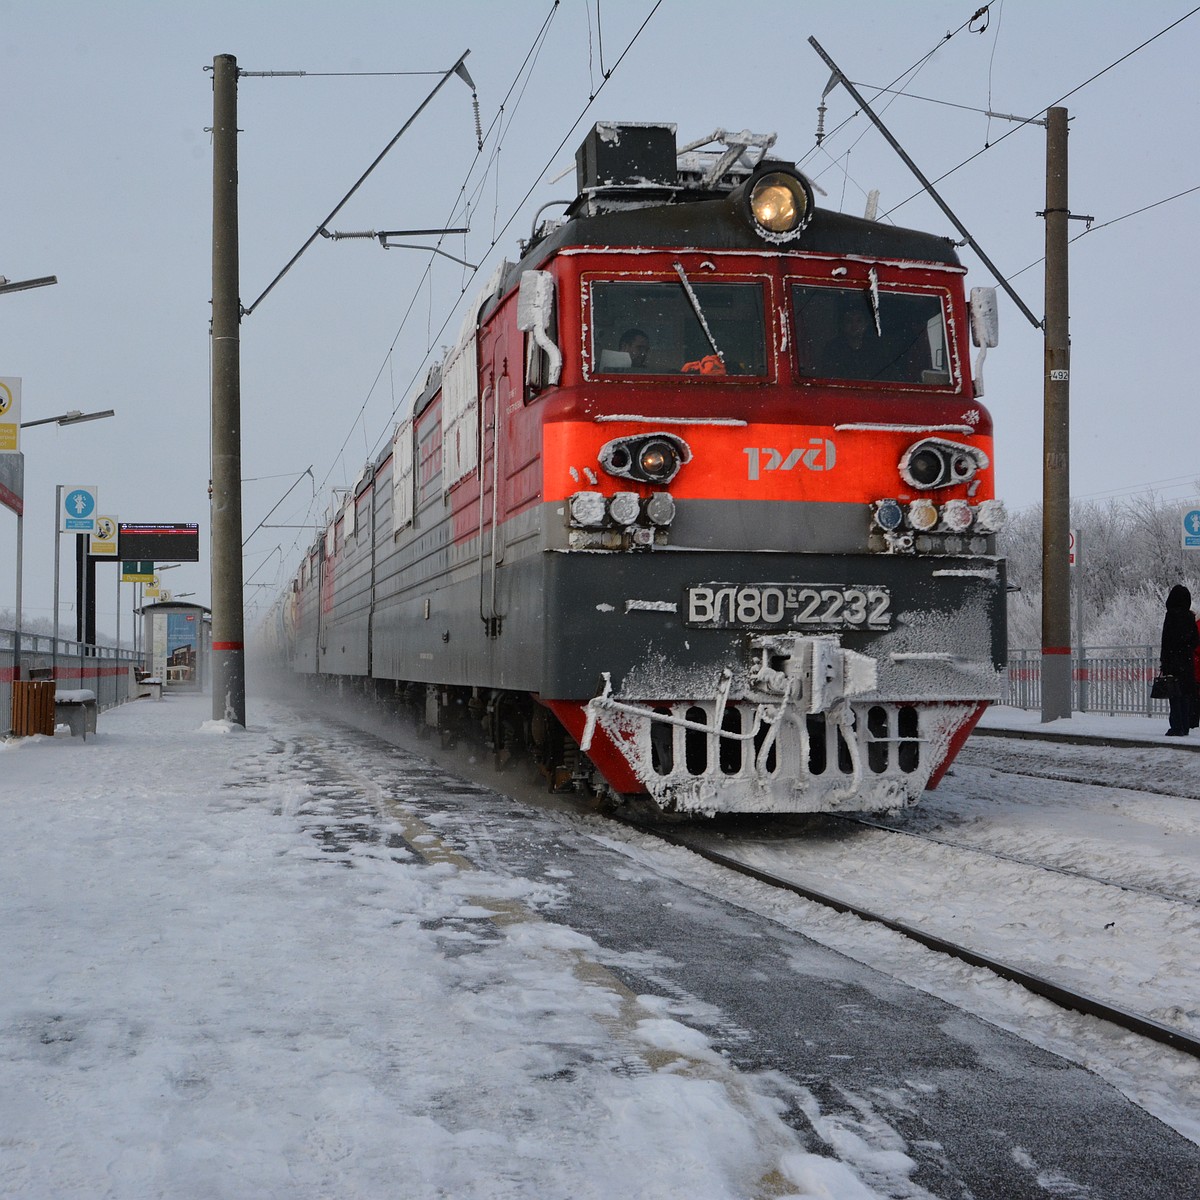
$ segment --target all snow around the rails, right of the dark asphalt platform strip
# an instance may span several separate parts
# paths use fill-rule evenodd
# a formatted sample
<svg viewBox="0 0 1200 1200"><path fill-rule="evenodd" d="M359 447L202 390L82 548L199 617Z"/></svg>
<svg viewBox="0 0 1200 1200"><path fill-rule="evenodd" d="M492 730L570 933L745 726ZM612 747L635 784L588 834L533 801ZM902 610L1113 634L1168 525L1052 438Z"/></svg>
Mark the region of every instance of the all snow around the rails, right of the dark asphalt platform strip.
<svg viewBox="0 0 1200 1200"><path fill-rule="evenodd" d="M1037 714L994 709L995 728L1039 730ZM1108 724L1105 724L1108 722ZM738 838L737 857L874 912L961 942L1162 1024L1200 1032L1200 754L1164 754L1158 719L1075 714L1055 732L1156 739L1142 748L1049 745L976 736L935 792L899 815L899 828L1126 884L1055 875L964 856L872 829L812 833L802 841ZM1200 733L1193 733L1200 745ZM1034 778L1054 769L1096 782ZM1002 768L1002 769L998 769ZM1026 774L1009 774L1021 772ZM1164 784L1163 781L1169 781ZM1166 786L1170 793L1153 788ZM1136 790L1145 788L1145 790ZM696 887L712 871L680 851L665 857L624 834L626 852ZM728 852L720 836L712 839ZM865 864L865 865L864 865ZM1177 900L1146 895L1163 892ZM1200 1062L1115 1026L1058 1009L990 972L922 952L899 934L751 881L742 902L862 962L962 1007L1094 1070L1200 1144ZM726 887L732 899L733 889Z"/></svg>

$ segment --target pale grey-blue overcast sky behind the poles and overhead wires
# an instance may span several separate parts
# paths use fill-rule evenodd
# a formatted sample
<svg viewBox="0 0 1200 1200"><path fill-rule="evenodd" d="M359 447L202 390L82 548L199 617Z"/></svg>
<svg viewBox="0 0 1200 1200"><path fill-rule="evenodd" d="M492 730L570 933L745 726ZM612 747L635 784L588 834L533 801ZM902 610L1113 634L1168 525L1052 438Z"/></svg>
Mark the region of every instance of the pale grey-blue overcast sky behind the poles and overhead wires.
<svg viewBox="0 0 1200 1200"><path fill-rule="evenodd" d="M163 583L209 601L208 130L218 54L242 71L307 72L240 82L246 307L464 50L485 138L480 154L470 90L451 79L331 222L469 223L444 248L480 264L476 275L418 251L320 239L242 323L245 532L298 480L269 523L304 526L250 538L250 624L311 544L330 488L353 481L430 353L454 341L463 293L499 257L517 257L540 205L574 194L574 151L593 121L672 121L680 142L718 127L775 132L776 154L824 191L818 203L862 215L878 188L884 220L956 236L840 89L815 150L829 73L809 36L856 83L901 80L925 97L884 95L877 108L929 178L954 172L940 190L1038 317L1044 131L986 112L1069 110L1070 208L1096 221L1086 234L1084 222L1070 227L1072 491L1189 500L1200 490L1188 307L1200 191L1178 193L1200 188L1200 13L1189 16L1188 0L1002 0L972 23L976 7L0 0L0 275L59 278L0 295L0 376L23 379L26 421L116 409L106 421L25 431L26 619L52 616L56 484L96 484L100 510L121 521L198 522L204 562ZM961 253L968 287L995 282L970 247ZM1040 499L1042 372L1040 331L1002 295L985 403L997 488L1013 509ZM13 604L14 563L16 517L0 509L0 608ZM64 595L73 594L66 547L62 564ZM110 630L113 568L101 569L98 593L98 625ZM73 630L66 602L61 613Z"/></svg>

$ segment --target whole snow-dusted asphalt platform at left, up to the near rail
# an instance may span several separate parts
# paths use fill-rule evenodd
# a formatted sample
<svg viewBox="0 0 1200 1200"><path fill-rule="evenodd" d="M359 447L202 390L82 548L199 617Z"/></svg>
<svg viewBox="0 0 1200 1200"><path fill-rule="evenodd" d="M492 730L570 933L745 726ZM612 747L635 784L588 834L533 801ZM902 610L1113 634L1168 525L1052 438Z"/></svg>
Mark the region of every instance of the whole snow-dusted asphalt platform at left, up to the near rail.
<svg viewBox="0 0 1200 1200"><path fill-rule="evenodd" d="M1200 1176L1180 1055L1100 1031L1085 1068L1060 1051L1099 1022L466 782L348 704L209 709L121 706L86 755L0 745L5 1194L1162 1200Z"/></svg>

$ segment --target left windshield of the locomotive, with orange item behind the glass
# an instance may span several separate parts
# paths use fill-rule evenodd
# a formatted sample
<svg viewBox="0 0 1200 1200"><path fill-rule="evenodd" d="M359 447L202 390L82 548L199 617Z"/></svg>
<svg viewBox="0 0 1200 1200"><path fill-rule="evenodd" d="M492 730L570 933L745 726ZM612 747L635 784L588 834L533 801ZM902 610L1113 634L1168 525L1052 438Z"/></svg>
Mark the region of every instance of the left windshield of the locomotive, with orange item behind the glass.
<svg viewBox="0 0 1200 1200"><path fill-rule="evenodd" d="M767 373L760 283L593 282L592 331L596 374Z"/></svg>

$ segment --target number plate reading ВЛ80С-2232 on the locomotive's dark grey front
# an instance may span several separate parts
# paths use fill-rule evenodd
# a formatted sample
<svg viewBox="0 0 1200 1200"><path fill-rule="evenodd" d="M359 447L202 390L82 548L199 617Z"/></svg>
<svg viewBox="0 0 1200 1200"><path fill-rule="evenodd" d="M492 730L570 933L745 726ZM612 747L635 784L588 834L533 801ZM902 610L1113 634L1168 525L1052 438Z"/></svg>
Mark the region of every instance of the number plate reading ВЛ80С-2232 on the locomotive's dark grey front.
<svg viewBox="0 0 1200 1200"><path fill-rule="evenodd" d="M890 629L892 593L835 583L696 583L684 613L694 629Z"/></svg>

